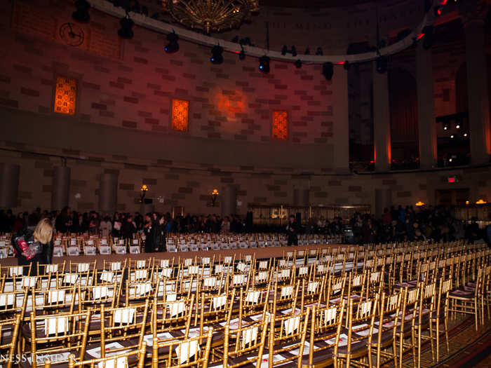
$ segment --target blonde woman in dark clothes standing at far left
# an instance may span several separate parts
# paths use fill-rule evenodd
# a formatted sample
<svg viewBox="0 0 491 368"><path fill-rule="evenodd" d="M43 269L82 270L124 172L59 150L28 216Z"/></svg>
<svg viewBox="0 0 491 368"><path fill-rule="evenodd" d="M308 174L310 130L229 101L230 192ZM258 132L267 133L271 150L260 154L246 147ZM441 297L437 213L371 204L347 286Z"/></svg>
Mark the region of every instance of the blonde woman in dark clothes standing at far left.
<svg viewBox="0 0 491 368"><path fill-rule="evenodd" d="M37 275L38 264L51 264L53 252L53 225L49 219L41 219L34 231L30 226L23 229L12 240L19 266L32 264L29 275Z"/></svg>

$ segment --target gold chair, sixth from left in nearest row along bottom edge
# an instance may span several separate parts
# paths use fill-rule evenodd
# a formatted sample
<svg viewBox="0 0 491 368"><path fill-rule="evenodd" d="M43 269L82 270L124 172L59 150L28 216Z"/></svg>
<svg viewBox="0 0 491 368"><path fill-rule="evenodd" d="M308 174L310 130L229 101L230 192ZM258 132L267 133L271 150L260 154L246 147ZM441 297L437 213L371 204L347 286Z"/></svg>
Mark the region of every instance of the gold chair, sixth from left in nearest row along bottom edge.
<svg viewBox="0 0 491 368"><path fill-rule="evenodd" d="M338 341L334 348L334 366L342 367L346 362L347 367L372 367L372 355L369 348L372 343L373 327L379 295L365 301L349 299L347 306L347 344L341 344L342 328L337 329ZM368 364L363 361L368 357Z"/></svg>

